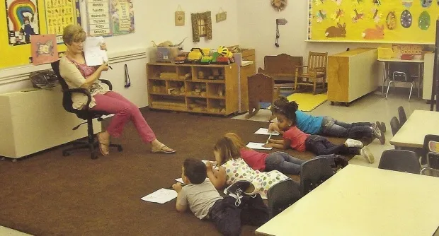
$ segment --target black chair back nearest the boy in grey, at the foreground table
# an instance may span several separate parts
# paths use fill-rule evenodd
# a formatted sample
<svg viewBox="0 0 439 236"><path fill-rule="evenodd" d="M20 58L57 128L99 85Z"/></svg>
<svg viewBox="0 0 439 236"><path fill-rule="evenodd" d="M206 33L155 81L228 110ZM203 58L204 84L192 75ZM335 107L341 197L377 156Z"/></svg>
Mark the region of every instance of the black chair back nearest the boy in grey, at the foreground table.
<svg viewBox="0 0 439 236"><path fill-rule="evenodd" d="M268 214L273 218L300 199L300 184L285 179L268 189L267 198Z"/></svg>

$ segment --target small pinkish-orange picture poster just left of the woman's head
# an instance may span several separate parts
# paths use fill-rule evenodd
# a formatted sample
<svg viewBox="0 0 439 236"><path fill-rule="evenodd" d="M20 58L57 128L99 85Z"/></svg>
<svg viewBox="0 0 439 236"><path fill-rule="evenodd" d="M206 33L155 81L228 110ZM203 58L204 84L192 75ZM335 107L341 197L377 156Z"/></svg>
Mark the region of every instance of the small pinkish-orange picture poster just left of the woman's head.
<svg viewBox="0 0 439 236"><path fill-rule="evenodd" d="M32 64L34 66L58 60L57 36L30 36L30 50L32 54Z"/></svg>

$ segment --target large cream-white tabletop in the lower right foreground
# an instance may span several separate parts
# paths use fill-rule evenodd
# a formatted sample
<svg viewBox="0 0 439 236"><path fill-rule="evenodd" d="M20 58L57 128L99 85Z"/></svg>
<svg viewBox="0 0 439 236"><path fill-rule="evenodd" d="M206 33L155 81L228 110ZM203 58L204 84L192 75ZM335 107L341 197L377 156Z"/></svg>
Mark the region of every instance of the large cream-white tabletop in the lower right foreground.
<svg viewBox="0 0 439 236"><path fill-rule="evenodd" d="M263 235L431 236L439 178L348 165L256 230Z"/></svg>

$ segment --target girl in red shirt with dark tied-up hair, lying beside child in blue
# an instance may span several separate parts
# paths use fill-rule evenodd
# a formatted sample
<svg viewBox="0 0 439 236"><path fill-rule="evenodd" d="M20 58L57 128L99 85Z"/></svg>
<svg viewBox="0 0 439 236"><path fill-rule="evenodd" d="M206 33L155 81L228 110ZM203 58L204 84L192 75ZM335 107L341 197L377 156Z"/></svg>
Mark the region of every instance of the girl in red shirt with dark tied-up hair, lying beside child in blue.
<svg viewBox="0 0 439 236"><path fill-rule="evenodd" d="M276 112L279 129L284 131L283 140L270 139L264 147L312 151L316 155L357 154L362 155L369 163L374 163L375 158L372 153L358 140L348 138L345 143L336 145L323 136L304 134L296 126L297 108L296 102L287 102Z"/></svg>

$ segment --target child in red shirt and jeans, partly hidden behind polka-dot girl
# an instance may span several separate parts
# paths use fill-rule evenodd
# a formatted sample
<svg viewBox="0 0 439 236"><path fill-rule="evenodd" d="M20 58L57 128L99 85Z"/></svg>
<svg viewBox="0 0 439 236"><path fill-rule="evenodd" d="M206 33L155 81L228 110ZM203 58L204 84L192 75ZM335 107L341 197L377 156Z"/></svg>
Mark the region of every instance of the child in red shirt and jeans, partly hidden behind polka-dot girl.
<svg viewBox="0 0 439 236"><path fill-rule="evenodd" d="M234 134L227 133L224 137L232 140L236 149L239 149L241 158L253 169L259 171L278 170L284 174L300 175L300 169L304 160L293 158L284 152L260 153L251 148L247 148L242 139Z"/></svg>

